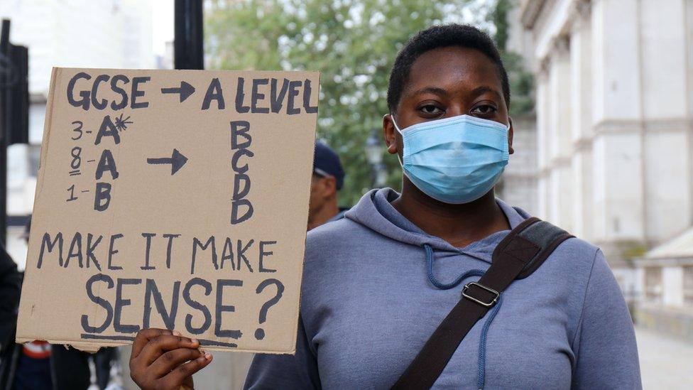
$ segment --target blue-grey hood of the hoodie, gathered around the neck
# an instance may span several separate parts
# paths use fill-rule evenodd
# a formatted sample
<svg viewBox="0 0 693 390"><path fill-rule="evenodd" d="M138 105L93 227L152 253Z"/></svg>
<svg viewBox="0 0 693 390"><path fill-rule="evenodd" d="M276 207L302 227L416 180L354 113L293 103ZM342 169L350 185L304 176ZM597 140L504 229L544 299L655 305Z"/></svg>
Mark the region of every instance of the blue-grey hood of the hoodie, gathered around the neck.
<svg viewBox="0 0 693 390"><path fill-rule="evenodd" d="M398 242L416 247L428 245L436 251L464 253L489 263L491 263L491 254L493 254L496 244L510 232L509 230L503 230L493 233L484 239L472 242L464 248L453 247L444 239L422 231L395 210L391 202L397 199L397 197L399 197L399 193L391 188L370 190L361 197L356 206L351 207L351 210L346 212L344 217ZM510 207L498 198L496 198L496 202L508 218L511 229L514 229L520 222L530 217L524 210Z"/></svg>

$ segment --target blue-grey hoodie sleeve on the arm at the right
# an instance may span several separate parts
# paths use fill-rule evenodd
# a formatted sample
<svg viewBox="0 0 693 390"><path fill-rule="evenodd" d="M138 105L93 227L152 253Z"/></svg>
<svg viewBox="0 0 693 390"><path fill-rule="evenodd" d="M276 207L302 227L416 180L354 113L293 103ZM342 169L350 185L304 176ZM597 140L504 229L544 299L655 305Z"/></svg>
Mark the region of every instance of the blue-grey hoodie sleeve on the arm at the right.
<svg viewBox="0 0 693 390"><path fill-rule="evenodd" d="M601 251L592 264L572 346L573 389L642 389L633 320Z"/></svg>

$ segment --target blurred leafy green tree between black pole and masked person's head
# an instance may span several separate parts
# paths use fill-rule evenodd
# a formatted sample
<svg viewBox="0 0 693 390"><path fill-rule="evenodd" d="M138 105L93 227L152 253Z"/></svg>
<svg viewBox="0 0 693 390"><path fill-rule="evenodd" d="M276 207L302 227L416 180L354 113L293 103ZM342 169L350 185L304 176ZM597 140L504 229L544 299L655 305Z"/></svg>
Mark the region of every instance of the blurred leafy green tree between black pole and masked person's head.
<svg viewBox="0 0 693 390"><path fill-rule="evenodd" d="M469 5L471 4L471 7ZM318 138L335 148L347 172L340 202L353 205L371 187L366 139L380 137L389 70L402 45L437 23L484 22L483 1L207 1L209 68L319 70ZM383 153L385 148L383 147ZM385 156L388 185L400 186L397 158Z"/></svg>

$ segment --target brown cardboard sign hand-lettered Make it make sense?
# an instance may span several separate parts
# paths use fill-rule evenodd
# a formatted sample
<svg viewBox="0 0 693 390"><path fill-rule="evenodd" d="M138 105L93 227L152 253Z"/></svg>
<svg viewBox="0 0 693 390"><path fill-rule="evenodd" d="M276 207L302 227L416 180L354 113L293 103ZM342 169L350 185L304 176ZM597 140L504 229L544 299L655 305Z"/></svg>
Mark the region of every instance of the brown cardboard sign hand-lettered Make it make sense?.
<svg viewBox="0 0 693 390"><path fill-rule="evenodd" d="M55 68L17 341L293 353L319 85Z"/></svg>

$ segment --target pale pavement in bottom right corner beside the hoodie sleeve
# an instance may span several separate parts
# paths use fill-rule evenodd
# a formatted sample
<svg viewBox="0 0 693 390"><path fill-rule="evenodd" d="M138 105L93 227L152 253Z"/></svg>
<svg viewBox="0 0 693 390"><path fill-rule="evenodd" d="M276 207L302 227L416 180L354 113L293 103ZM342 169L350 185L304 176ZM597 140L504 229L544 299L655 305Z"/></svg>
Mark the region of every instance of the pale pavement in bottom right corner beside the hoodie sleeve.
<svg viewBox="0 0 693 390"><path fill-rule="evenodd" d="M693 389L693 344L635 327L643 389Z"/></svg>

